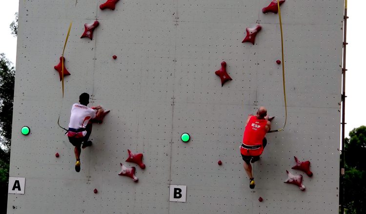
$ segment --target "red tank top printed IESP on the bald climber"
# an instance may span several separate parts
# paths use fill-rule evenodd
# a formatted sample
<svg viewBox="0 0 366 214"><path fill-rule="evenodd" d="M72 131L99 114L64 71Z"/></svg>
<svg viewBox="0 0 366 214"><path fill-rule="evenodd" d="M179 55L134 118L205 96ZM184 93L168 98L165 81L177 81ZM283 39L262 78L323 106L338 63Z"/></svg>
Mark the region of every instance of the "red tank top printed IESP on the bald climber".
<svg viewBox="0 0 366 214"><path fill-rule="evenodd" d="M265 119L258 119L256 116L252 116L245 126L243 143L245 145L262 145L263 138L267 133L265 125L267 125Z"/></svg>

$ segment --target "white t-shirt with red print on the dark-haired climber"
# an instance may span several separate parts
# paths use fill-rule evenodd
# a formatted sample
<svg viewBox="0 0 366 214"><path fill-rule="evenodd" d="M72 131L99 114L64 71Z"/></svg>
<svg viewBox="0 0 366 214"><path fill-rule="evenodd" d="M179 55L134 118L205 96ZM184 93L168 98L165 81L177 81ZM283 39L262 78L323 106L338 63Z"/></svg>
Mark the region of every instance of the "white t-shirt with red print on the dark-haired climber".
<svg viewBox="0 0 366 214"><path fill-rule="evenodd" d="M70 116L70 128L85 128L90 119L95 118L97 110L92 109L90 107L86 107L81 104L74 104L71 108L71 116ZM85 136L86 131L82 132L82 135Z"/></svg>

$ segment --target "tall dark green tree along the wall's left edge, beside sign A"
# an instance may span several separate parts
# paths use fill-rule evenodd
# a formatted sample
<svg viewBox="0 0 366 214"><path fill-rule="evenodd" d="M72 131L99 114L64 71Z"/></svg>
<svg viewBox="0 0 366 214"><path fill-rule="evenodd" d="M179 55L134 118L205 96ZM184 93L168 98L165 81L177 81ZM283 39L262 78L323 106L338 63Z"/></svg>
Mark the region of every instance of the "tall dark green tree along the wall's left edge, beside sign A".
<svg viewBox="0 0 366 214"><path fill-rule="evenodd" d="M11 129L13 118L15 70L11 62L0 54L0 198L7 201ZM6 213L6 203L0 213Z"/></svg>

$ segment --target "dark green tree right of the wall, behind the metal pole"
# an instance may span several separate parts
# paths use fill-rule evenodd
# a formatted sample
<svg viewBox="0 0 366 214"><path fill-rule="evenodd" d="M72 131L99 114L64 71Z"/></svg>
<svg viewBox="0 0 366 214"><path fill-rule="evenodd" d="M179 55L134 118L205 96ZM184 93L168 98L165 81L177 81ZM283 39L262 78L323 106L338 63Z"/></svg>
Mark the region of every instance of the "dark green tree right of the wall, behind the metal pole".
<svg viewBox="0 0 366 214"><path fill-rule="evenodd" d="M346 214L366 213L366 126L349 132L345 139L345 207Z"/></svg>

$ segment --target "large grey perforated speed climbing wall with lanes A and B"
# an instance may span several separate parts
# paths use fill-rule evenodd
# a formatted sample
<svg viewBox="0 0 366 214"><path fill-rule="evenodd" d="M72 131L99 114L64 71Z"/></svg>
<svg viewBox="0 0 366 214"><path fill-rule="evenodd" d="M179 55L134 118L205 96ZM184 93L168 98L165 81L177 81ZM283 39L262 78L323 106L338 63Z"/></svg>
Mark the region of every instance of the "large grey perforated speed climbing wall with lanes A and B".
<svg viewBox="0 0 366 214"><path fill-rule="evenodd" d="M270 0L102 3L20 0L10 177L25 185L9 194L8 214L338 213L342 0L281 5L287 123L267 134L254 190L239 151L246 117L265 106L272 129L285 123L278 14L262 12ZM92 40L80 38L97 19ZM62 98L54 66L71 20ZM258 24L254 45L242 43ZM223 61L232 80L222 86ZM77 173L57 121L67 127L82 92L111 112L94 124ZM125 161L128 149L145 169ZM311 162L312 177L291 169L294 156ZM139 181L119 176L120 163ZM286 170L305 191L284 183ZM171 184L186 186L186 202L169 201Z"/></svg>

